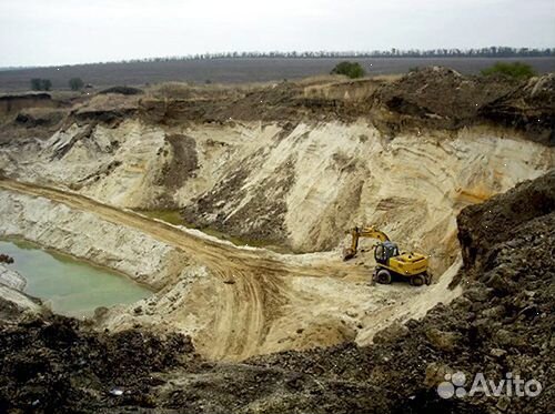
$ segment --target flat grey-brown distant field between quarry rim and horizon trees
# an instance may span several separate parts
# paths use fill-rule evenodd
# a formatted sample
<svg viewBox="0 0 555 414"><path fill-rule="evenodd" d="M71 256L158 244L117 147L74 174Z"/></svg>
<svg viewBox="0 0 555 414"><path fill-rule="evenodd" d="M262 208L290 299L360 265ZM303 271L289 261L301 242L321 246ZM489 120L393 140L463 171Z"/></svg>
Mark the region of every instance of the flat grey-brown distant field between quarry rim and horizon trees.
<svg viewBox="0 0 555 414"><path fill-rule="evenodd" d="M70 78L81 78L94 87L114 84L143 85L164 81L204 83L265 82L326 74L344 59L213 59L170 62L81 64L59 68L13 69L0 71L0 90L28 90L32 78L50 79L53 89L68 89ZM445 65L462 73L475 74L496 61L522 61L539 73L555 72L555 58L364 58L369 74L391 74L414 67Z"/></svg>

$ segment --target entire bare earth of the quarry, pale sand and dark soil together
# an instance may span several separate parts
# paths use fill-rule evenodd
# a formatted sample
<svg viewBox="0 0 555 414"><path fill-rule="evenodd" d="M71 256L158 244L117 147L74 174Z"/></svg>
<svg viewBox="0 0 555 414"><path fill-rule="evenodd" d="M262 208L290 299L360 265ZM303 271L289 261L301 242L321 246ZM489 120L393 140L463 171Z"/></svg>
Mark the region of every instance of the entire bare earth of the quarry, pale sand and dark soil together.
<svg viewBox="0 0 555 414"><path fill-rule="evenodd" d="M0 284L0 410L537 412L553 401L552 387L528 405L434 388L454 370L548 381L553 74L430 68L4 103L0 235L155 293L80 323ZM434 283L371 283L372 240L343 262L357 224L430 254Z"/></svg>

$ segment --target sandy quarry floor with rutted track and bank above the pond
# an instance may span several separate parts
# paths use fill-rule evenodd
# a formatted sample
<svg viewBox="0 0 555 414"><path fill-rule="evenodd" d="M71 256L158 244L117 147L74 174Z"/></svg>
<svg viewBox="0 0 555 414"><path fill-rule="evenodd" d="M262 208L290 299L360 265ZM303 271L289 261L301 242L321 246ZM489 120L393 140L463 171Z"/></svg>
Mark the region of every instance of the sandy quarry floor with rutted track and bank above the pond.
<svg viewBox="0 0 555 414"><path fill-rule="evenodd" d="M151 281L161 286L153 296L125 309L99 310L99 327L123 330L140 324L186 333L209 359L241 360L344 341L370 343L373 333L387 324L423 315L437 302L460 294L460 289L446 287L461 264L456 258L430 287L371 285L370 256L367 266L359 265L365 253L354 263L344 263L339 252L287 255L239 248L79 194L6 180L0 188L4 234L113 263L115 269L115 263L123 267L125 260L131 262L127 263L131 271L149 271L150 263L141 260L161 262L160 273L167 266L175 267L175 274L164 275L163 282ZM47 210L50 216L41 218ZM52 221L59 226L53 228ZM75 242L79 230L88 226L98 229L91 240ZM112 235L104 226L117 229L117 246L95 239ZM137 234L128 235L133 231L140 232L147 245L133 245ZM168 252L151 259L159 249Z"/></svg>

